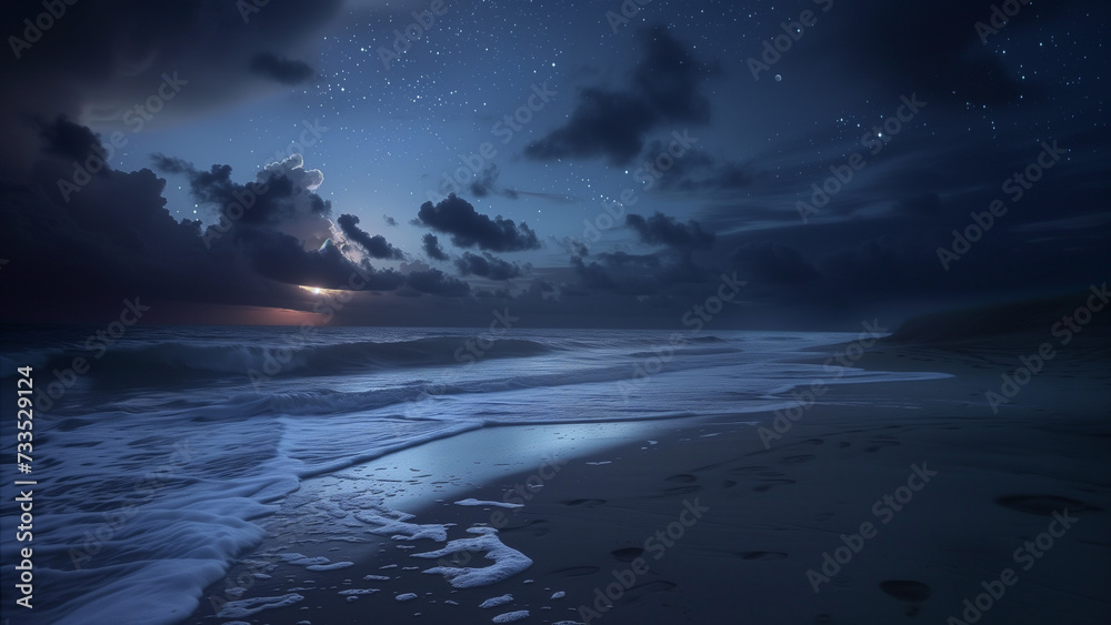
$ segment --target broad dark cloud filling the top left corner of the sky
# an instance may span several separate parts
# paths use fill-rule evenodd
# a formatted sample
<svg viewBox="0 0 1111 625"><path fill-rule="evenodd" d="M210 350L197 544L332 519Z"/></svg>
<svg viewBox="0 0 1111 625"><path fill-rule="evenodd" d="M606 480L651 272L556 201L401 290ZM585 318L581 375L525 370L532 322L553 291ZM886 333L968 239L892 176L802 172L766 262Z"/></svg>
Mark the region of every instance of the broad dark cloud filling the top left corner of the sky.
<svg viewBox="0 0 1111 625"><path fill-rule="evenodd" d="M242 12L244 6L251 10ZM180 91L148 124L166 127L198 111L271 94L283 88L274 78L293 78L297 70L266 54L311 52L342 6L343 0L273 1L262 8L226 0L66 2L66 14L49 34L19 54L0 54L0 92L20 94L0 99L0 144L23 147L0 151L0 167L28 173L43 143L36 119L63 114L98 129L133 130L124 113L156 92L163 75L177 77ZM42 12L41 0L0 2L6 43L9 36L21 36L24 19ZM252 69L256 59L263 59L262 71L274 71L263 78Z"/></svg>

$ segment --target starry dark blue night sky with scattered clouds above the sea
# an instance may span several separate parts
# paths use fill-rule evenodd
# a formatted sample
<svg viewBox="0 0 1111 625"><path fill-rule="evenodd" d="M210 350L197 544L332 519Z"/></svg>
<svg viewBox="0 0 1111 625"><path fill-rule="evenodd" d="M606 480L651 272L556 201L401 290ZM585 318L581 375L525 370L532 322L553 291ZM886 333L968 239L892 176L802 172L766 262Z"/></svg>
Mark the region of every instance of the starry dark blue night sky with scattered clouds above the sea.
<svg viewBox="0 0 1111 625"><path fill-rule="evenodd" d="M719 327L838 330L1107 279L1104 3L641 2L6 2L0 320L678 329L725 276Z"/></svg>

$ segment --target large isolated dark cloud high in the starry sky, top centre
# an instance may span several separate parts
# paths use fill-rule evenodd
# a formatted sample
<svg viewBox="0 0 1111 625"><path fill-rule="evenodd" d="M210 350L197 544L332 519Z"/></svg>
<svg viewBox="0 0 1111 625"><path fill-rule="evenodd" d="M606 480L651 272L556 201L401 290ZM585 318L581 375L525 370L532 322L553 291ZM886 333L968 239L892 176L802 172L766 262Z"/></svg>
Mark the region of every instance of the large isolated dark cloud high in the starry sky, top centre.
<svg viewBox="0 0 1111 625"><path fill-rule="evenodd" d="M621 91L588 88L567 124L530 143L524 155L536 160L604 157L628 163L641 152L644 138L661 124L710 121L709 100L699 92L713 73L663 28L641 31L644 56L631 84Z"/></svg>

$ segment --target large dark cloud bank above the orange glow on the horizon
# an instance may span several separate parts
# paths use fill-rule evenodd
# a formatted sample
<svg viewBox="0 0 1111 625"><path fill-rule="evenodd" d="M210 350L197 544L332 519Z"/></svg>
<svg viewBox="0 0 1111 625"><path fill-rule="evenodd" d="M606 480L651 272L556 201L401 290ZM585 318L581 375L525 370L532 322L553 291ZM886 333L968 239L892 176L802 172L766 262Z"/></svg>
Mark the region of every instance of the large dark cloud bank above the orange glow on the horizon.
<svg viewBox="0 0 1111 625"><path fill-rule="evenodd" d="M44 145L61 147L80 145L91 133L58 120L43 135ZM0 249L11 261L3 268L4 288L24 295L6 303L3 319L92 319L118 313L124 298L136 296L309 309L297 285L444 296L469 290L442 272L403 275L351 262L329 240L330 204L307 188L319 177L301 170L300 158L286 163L297 167L268 167L242 184L227 165L199 170L159 157L159 165L189 180L199 203L222 213L206 229L170 215L166 180L149 169L104 168L63 195L58 181L72 175L74 152L52 152L32 168L27 184L0 184Z"/></svg>

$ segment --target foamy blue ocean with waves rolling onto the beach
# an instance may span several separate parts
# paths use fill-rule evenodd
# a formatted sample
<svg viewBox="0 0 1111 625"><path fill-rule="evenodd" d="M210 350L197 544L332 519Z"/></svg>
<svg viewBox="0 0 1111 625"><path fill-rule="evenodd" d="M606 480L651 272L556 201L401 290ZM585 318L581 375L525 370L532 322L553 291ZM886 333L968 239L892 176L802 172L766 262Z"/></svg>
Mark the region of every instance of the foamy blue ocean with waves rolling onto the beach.
<svg viewBox="0 0 1111 625"><path fill-rule="evenodd" d="M797 403L792 390L814 381L943 376L815 361L855 333L9 326L0 336L0 448L6 465L29 452L29 471L7 474L36 482L2 484L3 595L17 593L20 550L33 547L42 623L180 622L303 480L444 436L748 413L755 427L770 419L755 413ZM33 393L17 395L21 377ZM19 396L33 404L33 437L18 451ZM31 536L13 541L27 521L13 502L27 490ZM382 502L364 507L403 518Z"/></svg>

